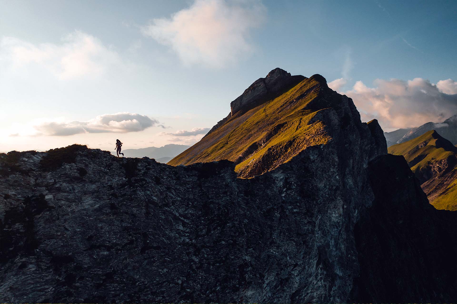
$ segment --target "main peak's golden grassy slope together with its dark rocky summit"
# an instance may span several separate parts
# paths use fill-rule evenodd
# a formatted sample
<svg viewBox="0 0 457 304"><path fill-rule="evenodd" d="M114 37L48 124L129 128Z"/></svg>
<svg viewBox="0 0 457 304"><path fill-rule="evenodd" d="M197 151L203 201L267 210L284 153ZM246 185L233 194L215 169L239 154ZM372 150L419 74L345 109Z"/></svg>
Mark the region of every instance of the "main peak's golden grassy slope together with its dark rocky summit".
<svg viewBox="0 0 457 304"><path fill-rule="evenodd" d="M168 164L227 159L236 164L240 177L253 177L307 147L327 144L350 119L360 120L352 100L330 89L321 75L290 76L279 68L256 80L230 105L225 119ZM385 146L383 134L377 136Z"/></svg>

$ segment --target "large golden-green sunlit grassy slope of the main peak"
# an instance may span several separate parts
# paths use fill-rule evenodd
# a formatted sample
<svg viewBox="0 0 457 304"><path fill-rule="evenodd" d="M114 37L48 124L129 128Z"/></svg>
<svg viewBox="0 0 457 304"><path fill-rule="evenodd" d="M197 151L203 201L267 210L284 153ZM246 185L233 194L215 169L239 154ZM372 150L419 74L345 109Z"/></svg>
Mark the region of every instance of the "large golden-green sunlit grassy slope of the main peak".
<svg viewBox="0 0 457 304"><path fill-rule="evenodd" d="M187 149L169 165L231 160L240 177L262 174L287 162L308 146L325 144L330 136L320 121L311 122L323 107L311 102L322 84L314 77L246 113L236 113L218 129Z"/></svg>

